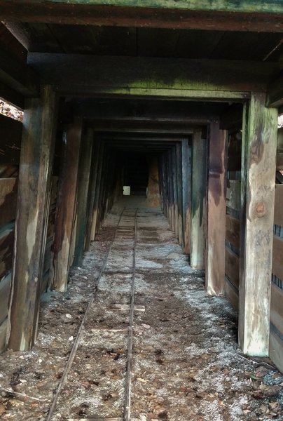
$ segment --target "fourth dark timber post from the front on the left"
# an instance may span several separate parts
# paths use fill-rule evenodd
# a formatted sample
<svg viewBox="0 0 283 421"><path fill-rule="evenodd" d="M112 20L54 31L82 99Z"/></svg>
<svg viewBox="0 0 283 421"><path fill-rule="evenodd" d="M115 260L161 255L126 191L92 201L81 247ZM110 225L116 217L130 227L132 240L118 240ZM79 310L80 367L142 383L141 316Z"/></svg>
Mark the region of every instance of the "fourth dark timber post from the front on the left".
<svg viewBox="0 0 283 421"><path fill-rule="evenodd" d="M95 145L92 147L92 163L90 168L90 186L88 191L88 211L87 211L87 221L85 227L85 250L90 250L90 236L91 236L91 227L92 227L92 217L93 217L93 206L95 203L95 189L97 182L97 172L98 172L98 159L99 159L99 150L101 144L100 142L95 142Z"/></svg>

